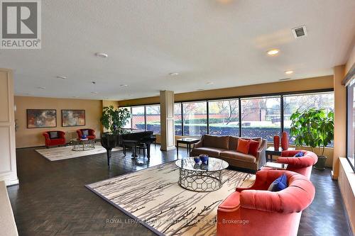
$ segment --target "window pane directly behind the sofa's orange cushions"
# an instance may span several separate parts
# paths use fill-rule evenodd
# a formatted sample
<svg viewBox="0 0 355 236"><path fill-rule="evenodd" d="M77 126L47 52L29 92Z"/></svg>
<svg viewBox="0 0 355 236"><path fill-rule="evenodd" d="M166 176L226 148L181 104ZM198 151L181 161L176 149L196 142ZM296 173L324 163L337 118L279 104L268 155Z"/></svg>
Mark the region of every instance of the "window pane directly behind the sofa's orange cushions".
<svg viewBox="0 0 355 236"><path fill-rule="evenodd" d="M241 136L273 142L281 135L280 96L241 99Z"/></svg>

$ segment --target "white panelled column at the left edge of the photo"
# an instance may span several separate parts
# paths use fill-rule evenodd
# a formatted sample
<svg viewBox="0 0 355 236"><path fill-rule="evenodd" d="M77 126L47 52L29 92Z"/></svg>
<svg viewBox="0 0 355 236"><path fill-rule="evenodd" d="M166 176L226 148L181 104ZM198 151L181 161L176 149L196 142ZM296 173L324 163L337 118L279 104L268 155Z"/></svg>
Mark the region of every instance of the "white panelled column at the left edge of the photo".
<svg viewBox="0 0 355 236"><path fill-rule="evenodd" d="M18 184L16 172L15 113L10 69L0 69L0 181Z"/></svg>

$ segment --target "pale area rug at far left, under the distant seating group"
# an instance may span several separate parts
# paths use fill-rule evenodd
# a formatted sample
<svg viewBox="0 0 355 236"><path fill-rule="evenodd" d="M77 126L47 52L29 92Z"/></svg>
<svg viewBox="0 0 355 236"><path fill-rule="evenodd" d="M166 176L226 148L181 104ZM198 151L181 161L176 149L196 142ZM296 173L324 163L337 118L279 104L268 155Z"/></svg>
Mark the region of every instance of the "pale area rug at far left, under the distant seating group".
<svg viewBox="0 0 355 236"><path fill-rule="evenodd" d="M122 147L116 147L112 149L112 152L116 152L119 150L122 150ZM94 150L88 150L88 151L72 151L72 146L53 147L48 149L45 148L45 149L38 149L35 151L52 162L59 161L61 159L70 159L75 157L85 157L92 154L106 153L106 149L104 149L104 147L102 147L102 145L99 142L95 144Z"/></svg>

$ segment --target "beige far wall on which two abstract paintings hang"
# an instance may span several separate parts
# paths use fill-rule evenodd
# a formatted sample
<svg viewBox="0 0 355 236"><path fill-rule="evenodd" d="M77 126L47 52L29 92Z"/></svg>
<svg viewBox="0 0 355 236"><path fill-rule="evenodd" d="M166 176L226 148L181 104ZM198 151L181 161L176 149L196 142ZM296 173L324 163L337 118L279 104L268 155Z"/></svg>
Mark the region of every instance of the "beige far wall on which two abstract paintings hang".
<svg viewBox="0 0 355 236"><path fill-rule="evenodd" d="M102 115L101 100L84 99L52 99L29 96L15 96L15 118L18 125L16 131L16 147L36 147L44 145L42 133L46 130L62 130L67 133L67 139L75 136L75 130L80 128L92 128L99 137L101 130L100 118ZM56 128L27 128L26 109L56 109ZM62 127L62 109L85 110L85 126ZM68 141L68 140L67 140Z"/></svg>

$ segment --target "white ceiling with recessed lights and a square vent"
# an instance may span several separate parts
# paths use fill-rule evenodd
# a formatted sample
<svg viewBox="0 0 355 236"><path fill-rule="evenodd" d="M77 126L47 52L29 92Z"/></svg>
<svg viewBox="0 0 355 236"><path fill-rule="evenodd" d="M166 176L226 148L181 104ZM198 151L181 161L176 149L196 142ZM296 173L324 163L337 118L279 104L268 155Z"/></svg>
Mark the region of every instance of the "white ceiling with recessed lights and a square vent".
<svg viewBox="0 0 355 236"><path fill-rule="evenodd" d="M45 0L42 49L1 50L0 67L16 95L133 99L329 75L354 35L354 0Z"/></svg>

